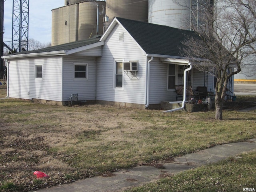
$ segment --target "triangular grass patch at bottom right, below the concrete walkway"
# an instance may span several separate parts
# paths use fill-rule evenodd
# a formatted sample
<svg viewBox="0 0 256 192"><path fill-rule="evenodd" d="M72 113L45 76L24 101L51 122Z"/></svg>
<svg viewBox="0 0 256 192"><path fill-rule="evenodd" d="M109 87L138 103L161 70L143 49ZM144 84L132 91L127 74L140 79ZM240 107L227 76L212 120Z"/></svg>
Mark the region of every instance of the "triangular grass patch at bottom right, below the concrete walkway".
<svg viewBox="0 0 256 192"><path fill-rule="evenodd" d="M256 152L162 178L126 192L241 192L256 188Z"/></svg>

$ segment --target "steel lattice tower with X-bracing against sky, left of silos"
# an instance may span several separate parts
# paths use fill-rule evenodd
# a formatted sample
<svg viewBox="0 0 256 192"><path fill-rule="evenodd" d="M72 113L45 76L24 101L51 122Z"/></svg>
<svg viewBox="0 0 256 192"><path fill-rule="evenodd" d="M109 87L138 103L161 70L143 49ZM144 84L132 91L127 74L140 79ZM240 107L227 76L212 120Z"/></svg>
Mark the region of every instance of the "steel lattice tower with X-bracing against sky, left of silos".
<svg viewBox="0 0 256 192"><path fill-rule="evenodd" d="M28 50L29 0L13 0L12 7L12 50Z"/></svg>

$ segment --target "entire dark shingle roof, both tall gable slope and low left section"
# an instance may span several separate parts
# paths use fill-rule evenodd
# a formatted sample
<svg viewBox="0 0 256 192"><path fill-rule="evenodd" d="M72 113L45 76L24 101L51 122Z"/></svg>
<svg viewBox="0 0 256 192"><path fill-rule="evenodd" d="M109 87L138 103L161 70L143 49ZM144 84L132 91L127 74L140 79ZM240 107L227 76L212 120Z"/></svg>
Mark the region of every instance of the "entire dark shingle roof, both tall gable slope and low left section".
<svg viewBox="0 0 256 192"><path fill-rule="evenodd" d="M186 40L187 36L195 35L192 31L172 28L169 26L140 22L119 17L117 17L117 20L122 24L122 26L124 26L124 28L126 28L134 40L138 42L138 44L147 54L182 56L179 48L184 47L182 41ZM70 42L33 51L24 51L11 55L68 51L96 43L99 40L100 36L97 35L86 40Z"/></svg>

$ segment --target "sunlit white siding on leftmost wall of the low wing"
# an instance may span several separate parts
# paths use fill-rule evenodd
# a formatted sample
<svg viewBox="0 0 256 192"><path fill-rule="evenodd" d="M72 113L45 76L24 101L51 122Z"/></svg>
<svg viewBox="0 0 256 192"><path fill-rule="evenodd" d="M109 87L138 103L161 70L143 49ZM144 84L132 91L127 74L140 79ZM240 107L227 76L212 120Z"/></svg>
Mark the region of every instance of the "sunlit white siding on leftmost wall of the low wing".
<svg viewBox="0 0 256 192"><path fill-rule="evenodd" d="M43 66L43 78L35 78L35 66ZM62 58L36 57L10 60L9 96L61 101ZM29 94L28 94L29 92Z"/></svg>

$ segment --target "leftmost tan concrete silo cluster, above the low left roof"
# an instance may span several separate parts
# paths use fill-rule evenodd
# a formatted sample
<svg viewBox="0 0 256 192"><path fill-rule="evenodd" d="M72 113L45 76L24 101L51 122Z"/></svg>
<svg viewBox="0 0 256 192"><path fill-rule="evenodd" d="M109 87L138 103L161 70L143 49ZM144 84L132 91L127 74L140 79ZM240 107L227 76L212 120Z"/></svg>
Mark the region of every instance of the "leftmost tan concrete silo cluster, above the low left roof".
<svg viewBox="0 0 256 192"><path fill-rule="evenodd" d="M96 35L97 10L98 34L103 33L105 1L65 0L65 5L52 10L52 46Z"/></svg>

